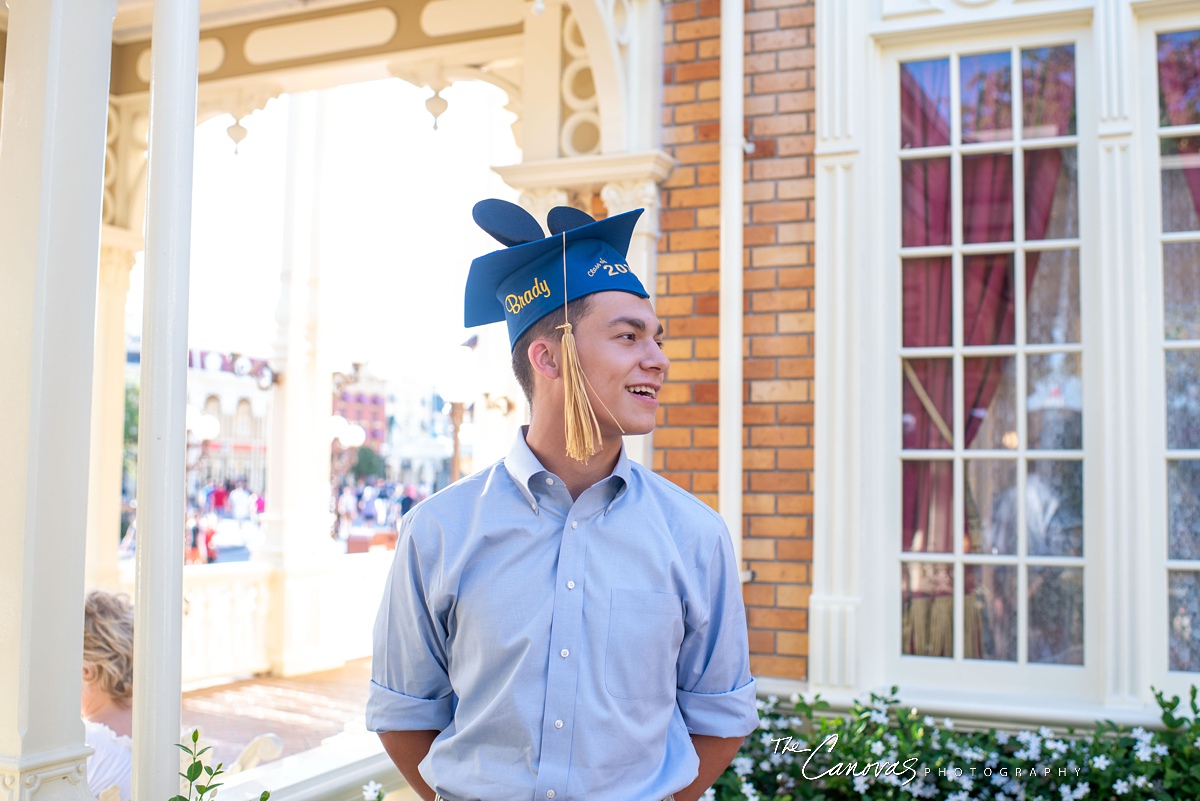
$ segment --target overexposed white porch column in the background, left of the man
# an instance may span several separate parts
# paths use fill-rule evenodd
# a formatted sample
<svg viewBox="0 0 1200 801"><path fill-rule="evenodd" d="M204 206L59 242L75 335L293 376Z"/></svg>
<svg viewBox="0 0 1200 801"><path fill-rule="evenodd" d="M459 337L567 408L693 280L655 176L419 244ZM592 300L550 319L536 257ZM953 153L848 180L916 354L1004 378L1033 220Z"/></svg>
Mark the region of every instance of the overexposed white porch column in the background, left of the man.
<svg viewBox="0 0 1200 801"><path fill-rule="evenodd" d="M271 397L264 546L277 568L269 612L271 671L299 675L344 664L336 619L338 548L330 538L331 372L319 343L323 98L288 101L287 209Z"/></svg>

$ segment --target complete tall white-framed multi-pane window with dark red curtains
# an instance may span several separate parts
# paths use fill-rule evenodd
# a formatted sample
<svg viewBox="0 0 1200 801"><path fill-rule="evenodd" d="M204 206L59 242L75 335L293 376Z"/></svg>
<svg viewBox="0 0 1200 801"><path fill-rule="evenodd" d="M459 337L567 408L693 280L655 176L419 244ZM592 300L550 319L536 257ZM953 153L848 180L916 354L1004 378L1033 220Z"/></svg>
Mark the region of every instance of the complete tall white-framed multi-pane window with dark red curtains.
<svg viewBox="0 0 1200 801"><path fill-rule="evenodd" d="M884 54L887 673L1094 694L1090 32Z"/></svg>

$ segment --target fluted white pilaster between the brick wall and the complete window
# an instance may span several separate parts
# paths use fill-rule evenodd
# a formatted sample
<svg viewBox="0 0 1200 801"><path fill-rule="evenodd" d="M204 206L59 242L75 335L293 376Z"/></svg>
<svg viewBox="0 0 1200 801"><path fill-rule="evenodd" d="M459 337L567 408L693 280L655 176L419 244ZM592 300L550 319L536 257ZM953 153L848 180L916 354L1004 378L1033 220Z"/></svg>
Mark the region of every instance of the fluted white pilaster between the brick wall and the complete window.
<svg viewBox="0 0 1200 801"><path fill-rule="evenodd" d="M880 282L869 265L880 264L882 247L854 221L876 219L874 198L863 191L869 169L863 156L864 14L850 4L817 5L817 147L816 252L817 331L812 595L809 600L809 685L827 694L851 693L882 681L888 654L884 643L892 621L864 613L894 609L896 598L882 598L882 560L865 564L862 554L886 550L886 505L876 496L884 487L887 459L864 457L863 447L887 442L890 420L863 414L864 398L887 396L884 377L871 371L859 351L884 349L878 341ZM864 283L865 282L865 283ZM874 406L871 406L874 409ZM865 442L865 446L860 444ZM878 456L878 458L876 458Z"/></svg>

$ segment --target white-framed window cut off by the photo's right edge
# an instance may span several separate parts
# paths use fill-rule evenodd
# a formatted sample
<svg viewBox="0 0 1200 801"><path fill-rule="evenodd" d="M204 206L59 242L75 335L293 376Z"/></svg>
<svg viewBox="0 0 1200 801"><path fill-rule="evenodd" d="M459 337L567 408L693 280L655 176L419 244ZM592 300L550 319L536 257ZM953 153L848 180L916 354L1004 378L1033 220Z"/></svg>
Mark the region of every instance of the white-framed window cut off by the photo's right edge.
<svg viewBox="0 0 1200 801"><path fill-rule="evenodd" d="M1154 682L1200 682L1200 16L1142 25Z"/></svg>

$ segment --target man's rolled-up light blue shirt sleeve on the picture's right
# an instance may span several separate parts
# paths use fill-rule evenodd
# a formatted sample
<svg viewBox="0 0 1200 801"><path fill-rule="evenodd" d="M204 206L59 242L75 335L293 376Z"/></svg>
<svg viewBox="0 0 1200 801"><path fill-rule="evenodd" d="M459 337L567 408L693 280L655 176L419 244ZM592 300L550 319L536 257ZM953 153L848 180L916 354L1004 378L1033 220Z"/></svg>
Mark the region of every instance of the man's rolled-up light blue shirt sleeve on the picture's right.
<svg viewBox="0 0 1200 801"><path fill-rule="evenodd" d="M724 524L697 589L679 649L679 711L691 734L742 737L758 727L758 712L742 582Z"/></svg>

